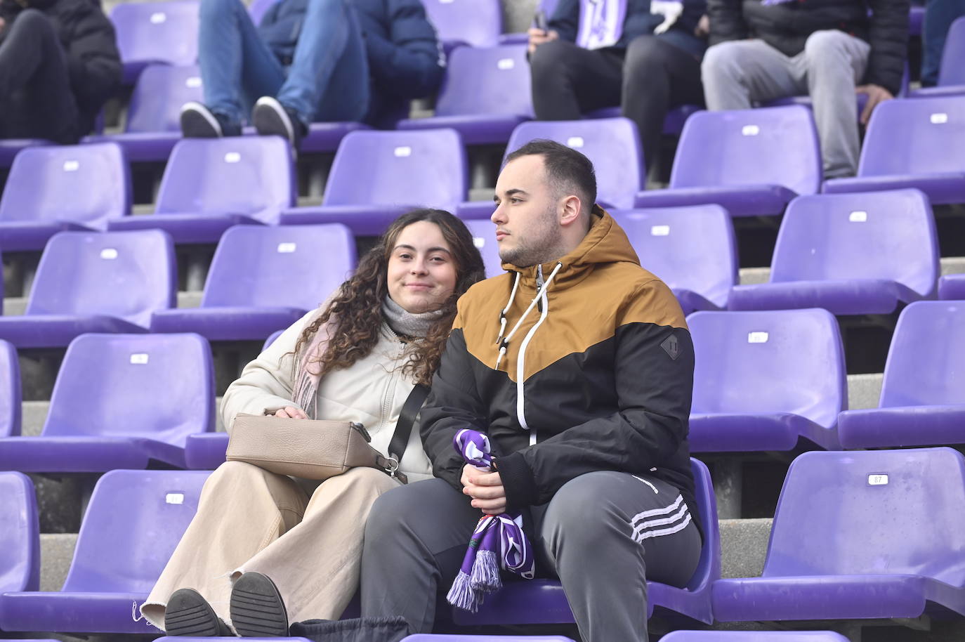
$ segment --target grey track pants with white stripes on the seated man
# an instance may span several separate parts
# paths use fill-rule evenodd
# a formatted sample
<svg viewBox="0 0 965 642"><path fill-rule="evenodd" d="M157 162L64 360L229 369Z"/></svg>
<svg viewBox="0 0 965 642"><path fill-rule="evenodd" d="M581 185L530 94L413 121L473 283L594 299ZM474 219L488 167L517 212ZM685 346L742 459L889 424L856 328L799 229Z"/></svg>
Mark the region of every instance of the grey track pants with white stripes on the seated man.
<svg viewBox="0 0 965 642"><path fill-rule="evenodd" d="M363 617L400 615L413 632L429 632L436 591L452 585L480 516L439 479L379 497L362 555ZM533 507L533 522L537 575L560 577L584 642L646 641L645 578L684 586L701 555L676 488L626 473L571 480Z"/></svg>

